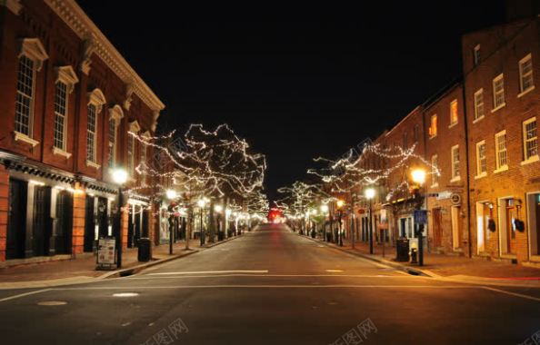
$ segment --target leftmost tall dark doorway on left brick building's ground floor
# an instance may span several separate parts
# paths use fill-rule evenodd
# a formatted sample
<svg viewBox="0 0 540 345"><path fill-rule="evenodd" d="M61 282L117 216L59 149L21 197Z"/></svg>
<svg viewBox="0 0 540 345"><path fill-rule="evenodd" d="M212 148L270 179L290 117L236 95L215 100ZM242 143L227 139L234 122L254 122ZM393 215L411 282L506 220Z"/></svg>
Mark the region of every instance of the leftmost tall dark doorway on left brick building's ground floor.
<svg viewBox="0 0 540 345"><path fill-rule="evenodd" d="M26 189L26 182L9 180L9 212L5 244L5 259L7 260L25 257Z"/></svg>

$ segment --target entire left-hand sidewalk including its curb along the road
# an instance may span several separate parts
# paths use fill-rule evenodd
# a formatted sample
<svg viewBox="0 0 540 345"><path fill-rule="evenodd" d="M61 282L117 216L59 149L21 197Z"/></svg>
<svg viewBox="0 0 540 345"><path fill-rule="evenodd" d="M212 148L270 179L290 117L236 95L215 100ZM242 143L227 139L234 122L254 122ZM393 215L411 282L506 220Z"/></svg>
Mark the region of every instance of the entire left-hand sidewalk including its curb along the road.
<svg viewBox="0 0 540 345"><path fill-rule="evenodd" d="M96 271L95 255L92 253L84 254L75 260L46 261L0 268L0 289L50 287L125 276L234 240L236 237L222 242L206 243L202 248L198 240L190 240L189 251L185 251L184 241L176 242L173 245L173 255L169 255L168 244L160 244L152 248L152 260L148 262L137 261L137 248L128 248L122 252L122 269L115 271Z"/></svg>

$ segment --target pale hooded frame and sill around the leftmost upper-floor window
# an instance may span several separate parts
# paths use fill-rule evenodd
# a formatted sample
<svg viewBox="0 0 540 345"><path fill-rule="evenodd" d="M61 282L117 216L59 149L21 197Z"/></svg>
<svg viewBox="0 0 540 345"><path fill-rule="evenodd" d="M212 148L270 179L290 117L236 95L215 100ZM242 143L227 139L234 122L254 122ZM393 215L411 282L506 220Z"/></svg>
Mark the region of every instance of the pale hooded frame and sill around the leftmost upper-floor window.
<svg viewBox="0 0 540 345"><path fill-rule="evenodd" d="M37 72L41 71L43 62L49 58L45 52L45 47L38 38L23 38L18 40L18 54L17 58L17 85L16 94L19 94L18 83L19 83L19 69L20 69L20 59L25 56L26 59L32 61L32 87L31 95L29 96L29 113L28 113L28 133L21 133L14 130L15 142L29 143L32 147L35 147L39 142L33 139L34 136L34 103L35 103L35 79ZM28 96L28 95L26 95ZM18 97L17 97L18 98ZM16 122L16 104L17 98L15 98L15 119ZM16 128L16 125L15 125Z"/></svg>

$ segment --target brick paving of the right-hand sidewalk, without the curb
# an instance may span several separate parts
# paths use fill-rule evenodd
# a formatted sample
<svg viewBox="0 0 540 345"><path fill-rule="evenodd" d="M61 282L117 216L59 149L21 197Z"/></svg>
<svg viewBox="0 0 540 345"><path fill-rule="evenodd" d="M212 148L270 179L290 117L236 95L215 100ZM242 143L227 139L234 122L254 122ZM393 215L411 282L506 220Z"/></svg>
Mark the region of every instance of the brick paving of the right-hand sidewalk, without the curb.
<svg viewBox="0 0 540 345"><path fill-rule="evenodd" d="M320 238L318 241L322 241ZM325 242L326 243L326 242ZM334 243L331 246L337 247ZM395 261L395 247L388 243L385 246L385 257L383 258L383 246L374 243L374 254L369 254L369 245L366 242L356 242L355 250L351 248L349 242L344 242L341 249L356 251L360 254L373 257L377 260L394 261L412 269L428 270L439 276L475 276L483 278L502 278L515 280L540 280L540 269L524 267L517 264L510 264L499 261L486 261L481 259L470 259L465 256L424 253L424 266L418 266L410 262Z"/></svg>

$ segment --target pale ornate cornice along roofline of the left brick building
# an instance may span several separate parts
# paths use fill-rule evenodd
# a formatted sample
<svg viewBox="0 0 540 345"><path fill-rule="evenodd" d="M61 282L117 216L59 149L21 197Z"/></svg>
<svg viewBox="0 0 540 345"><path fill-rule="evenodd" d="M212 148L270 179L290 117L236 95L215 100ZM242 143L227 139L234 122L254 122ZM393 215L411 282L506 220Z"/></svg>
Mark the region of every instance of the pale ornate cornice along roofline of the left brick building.
<svg viewBox="0 0 540 345"><path fill-rule="evenodd" d="M165 104L157 98L139 74L136 74L115 46L105 37L105 34L95 26L94 22L74 0L45 0L45 4L51 7L56 15L62 18L65 24L81 39L90 40L93 44L93 50L90 54L94 53L99 56L125 84L132 84L133 92L148 107L156 112L165 108ZM89 68L89 64L85 65L85 68Z"/></svg>

